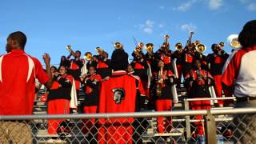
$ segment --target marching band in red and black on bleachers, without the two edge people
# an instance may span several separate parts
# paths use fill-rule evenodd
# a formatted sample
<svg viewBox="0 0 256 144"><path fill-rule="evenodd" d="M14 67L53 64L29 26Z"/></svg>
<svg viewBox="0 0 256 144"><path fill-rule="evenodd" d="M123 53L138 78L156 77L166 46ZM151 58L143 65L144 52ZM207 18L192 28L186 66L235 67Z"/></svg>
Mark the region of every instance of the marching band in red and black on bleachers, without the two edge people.
<svg viewBox="0 0 256 144"><path fill-rule="evenodd" d="M170 48L168 35L164 36L162 46L155 52L153 43L144 46L139 42L131 61L121 42L114 43L111 58L100 47L96 48L98 55L86 52L81 58L80 51L66 46L70 55L62 56L58 69L54 66L50 68L54 83L46 92L49 95L41 100L48 101L48 114L69 114L70 110L78 110L77 99L82 88L85 99L81 110L84 114L172 110L174 103L178 103L177 90L182 86L182 77L188 98L222 98L222 68L229 57L223 50L224 42L214 43L212 53L204 55L206 46L199 41L192 42L192 34L186 46L179 42L174 50ZM215 106L230 103L220 100ZM190 108L210 109L211 104L210 100L194 101L190 102ZM196 119L202 119L202 116L198 115ZM49 120L49 134L65 131L61 123L62 120ZM92 118L85 123L89 124L82 131L87 133L94 130L91 126L105 122L96 122ZM171 118L165 118L164 122L164 118L159 117L158 132L170 132L171 123ZM202 122L195 122L195 125L194 136L202 135ZM114 126L109 128L116 129ZM98 136L106 131L114 135L113 138L119 138L118 134L112 134L108 129L98 130ZM119 132L122 131L128 131L124 136L128 140L133 130L127 126Z"/></svg>

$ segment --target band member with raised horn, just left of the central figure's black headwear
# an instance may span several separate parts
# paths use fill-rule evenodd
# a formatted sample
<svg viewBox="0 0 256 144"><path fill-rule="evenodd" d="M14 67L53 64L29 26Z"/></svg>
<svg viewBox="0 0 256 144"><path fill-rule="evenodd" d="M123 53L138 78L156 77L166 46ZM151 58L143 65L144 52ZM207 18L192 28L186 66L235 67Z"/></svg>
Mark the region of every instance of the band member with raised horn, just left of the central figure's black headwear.
<svg viewBox="0 0 256 144"><path fill-rule="evenodd" d="M108 59L109 54L107 54L106 51L99 47L97 47L96 50L98 51L98 55L96 56L98 60L97 73L102 77L102 79L104 79L109 77L112 73L110 68L111 61Z"/></svg>

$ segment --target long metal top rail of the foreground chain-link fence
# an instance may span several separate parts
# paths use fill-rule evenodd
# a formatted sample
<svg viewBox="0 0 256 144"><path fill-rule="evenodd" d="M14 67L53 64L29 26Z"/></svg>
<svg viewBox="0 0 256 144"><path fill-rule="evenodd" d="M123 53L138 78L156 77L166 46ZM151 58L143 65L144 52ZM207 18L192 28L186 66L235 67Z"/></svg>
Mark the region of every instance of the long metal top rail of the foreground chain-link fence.
<svg viewBox="0 0 256 144"><path fill-rule="evenodd" d="M234 108L210 110L210 114L256 114L256 108ZM174 110L137 113L102 113L102 114L52 114L52 115L0 115L0 120L32 120L32 119L83 119L83 118L151 118L168 116L206 115L207 110Z"/></svg>

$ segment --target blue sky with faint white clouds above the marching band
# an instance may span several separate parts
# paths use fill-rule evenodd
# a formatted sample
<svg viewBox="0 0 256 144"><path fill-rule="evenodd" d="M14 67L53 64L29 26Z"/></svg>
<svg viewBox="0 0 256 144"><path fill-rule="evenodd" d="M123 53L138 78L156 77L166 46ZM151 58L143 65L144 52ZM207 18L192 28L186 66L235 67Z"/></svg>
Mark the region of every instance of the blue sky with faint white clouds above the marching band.
<svg viewBox="0 0 256 144"><path fill-rule="evenodd" d="M256 18L256 0L1 0L0 54L6 53L6 37L21 30L28 38L26 52L42 61L50 54L53 64L67 55L66 45L82 54L100 46L109 54L111 42L122 42L130 54L133 37L154 43L154 50L170 35L171 49L186 43L188 31L206 44L226 42L242 26ZM225 48L230 51L230 47Z"/></svg>

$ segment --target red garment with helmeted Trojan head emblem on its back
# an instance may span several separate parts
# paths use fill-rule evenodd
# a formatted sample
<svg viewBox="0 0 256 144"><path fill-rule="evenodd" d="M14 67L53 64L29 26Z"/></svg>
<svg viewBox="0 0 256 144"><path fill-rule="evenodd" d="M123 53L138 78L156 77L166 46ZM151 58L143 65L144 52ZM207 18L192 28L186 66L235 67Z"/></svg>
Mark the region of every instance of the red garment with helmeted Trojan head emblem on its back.
<svg viewBox="0 0 256 144"><path fill-rule="evenodd" d="M139 97L146 98L139 78L124 70L114 71L109 79L102 82L99 98L99 113L135 112ZM133 143L134 118L100 118L98 143Z"/></svg>

